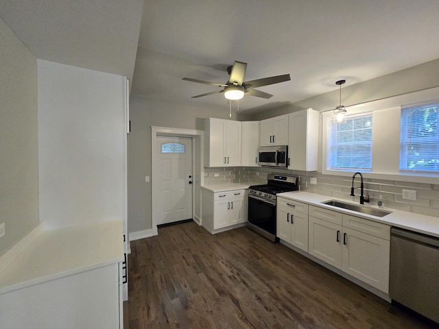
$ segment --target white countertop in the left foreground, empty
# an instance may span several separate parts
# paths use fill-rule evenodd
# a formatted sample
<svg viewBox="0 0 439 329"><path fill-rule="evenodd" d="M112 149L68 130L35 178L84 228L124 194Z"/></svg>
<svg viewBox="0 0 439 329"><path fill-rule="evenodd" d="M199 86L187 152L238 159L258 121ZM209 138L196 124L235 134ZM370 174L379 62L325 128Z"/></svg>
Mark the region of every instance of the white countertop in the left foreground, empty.
<svg viewBox="0 0 439 329"><path fill-rule="evenodd" d="M122 261L122 221L43 230L0 272L0 293Z"/></svg>

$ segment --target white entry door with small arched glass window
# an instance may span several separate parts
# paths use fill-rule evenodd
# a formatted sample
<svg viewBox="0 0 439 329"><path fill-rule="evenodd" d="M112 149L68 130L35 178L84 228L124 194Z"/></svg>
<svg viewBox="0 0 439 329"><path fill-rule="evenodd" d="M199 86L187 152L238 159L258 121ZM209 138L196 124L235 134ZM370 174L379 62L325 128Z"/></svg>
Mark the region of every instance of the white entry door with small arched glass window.
<svg viewBox="0 0 439 329"><path fill-rule="evenodd" d="M157 224L192 218L192 138L157 136L160 218Z"/></svg>

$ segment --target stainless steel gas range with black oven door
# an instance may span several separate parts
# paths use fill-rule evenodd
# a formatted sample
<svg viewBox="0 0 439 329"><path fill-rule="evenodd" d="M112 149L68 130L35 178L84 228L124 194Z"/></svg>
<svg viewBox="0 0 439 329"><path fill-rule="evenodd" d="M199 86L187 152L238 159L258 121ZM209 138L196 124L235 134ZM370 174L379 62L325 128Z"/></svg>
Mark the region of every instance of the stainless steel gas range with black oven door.
<svg viewBox="0 0 439 329"><path fill-rule="evenodd" d="M252 185L248 191L248 227L272 242L276 237L276 194L298 191L298 178L269 173L267 184Z"/></svg>

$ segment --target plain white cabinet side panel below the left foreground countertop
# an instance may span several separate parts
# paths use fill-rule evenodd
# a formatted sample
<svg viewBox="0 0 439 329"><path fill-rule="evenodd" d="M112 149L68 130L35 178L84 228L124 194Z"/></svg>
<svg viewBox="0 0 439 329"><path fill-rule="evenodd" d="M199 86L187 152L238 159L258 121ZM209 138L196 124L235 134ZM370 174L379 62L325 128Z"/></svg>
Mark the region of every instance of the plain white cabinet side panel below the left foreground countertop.
<svg viewBox="0 0 439 329"><path fill-rule="evenodd" d="M123 328L119 266L81 271L1 294L1 328Z"/></svg>

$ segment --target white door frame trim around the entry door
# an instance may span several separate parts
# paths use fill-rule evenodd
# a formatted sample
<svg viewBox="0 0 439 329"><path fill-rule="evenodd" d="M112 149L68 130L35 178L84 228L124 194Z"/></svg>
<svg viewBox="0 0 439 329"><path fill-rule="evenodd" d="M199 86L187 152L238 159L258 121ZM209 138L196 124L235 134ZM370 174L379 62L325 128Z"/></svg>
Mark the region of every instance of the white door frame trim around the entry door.
<svg viewBox="0 0 439 329"><path fill-rule="evenodd" d="M160 209L154 206L156 198L160 196L158 182L158 168L154 158L154 147L158 136L191 137L192 138L192 218L201 225L201 186L204 184L204 131L172 127L151 126L151 219L152 235L157 235L157 219L160 218Z"/></svg>

